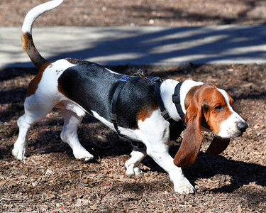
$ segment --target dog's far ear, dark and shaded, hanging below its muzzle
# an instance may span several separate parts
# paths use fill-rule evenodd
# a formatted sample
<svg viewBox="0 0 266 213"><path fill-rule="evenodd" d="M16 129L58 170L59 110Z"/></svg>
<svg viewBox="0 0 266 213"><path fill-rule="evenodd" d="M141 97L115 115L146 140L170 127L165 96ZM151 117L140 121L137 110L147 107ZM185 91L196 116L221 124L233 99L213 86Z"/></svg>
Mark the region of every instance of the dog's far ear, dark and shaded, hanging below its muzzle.
<svg viewBox="0 0 266 213"><path fill-rule="evenodd" d="M221 154L227 146L229 145L230 138L220 138L214 136L214 140L211 141L209 148L207 149L207 153L210 155L218 155Z"/></svg>

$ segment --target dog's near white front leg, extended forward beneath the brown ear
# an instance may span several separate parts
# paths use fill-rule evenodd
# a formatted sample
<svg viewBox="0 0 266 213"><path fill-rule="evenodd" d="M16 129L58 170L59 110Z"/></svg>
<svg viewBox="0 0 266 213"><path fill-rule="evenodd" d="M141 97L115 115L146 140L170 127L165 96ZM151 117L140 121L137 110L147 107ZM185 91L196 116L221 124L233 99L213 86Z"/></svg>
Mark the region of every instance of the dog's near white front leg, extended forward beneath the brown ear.
<svg viewBox="0 0 266 213"><path fill-rule="evenodd" d="M182 168L174 165L173 158L168 152L170 140L168 125L160 116L160 112L154 111L150 118L138 122L140 138L147 147L147 154L169 174L170 180L174 183L174 192L193 193L194 187L184 177Z"/></svg>

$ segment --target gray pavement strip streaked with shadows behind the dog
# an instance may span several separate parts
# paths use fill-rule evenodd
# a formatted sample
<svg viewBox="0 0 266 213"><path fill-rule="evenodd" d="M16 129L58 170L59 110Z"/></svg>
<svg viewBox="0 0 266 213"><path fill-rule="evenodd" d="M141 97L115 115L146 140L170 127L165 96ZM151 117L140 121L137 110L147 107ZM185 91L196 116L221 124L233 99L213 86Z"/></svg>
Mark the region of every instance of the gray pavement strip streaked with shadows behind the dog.
<svg viewBox="0 0 266 213"><path fill-rule="evenodd" d="M0 28L0 69L33 67L20 28ZM266 26L33 28L48 60L79 58L102 65L266 63Z"/></svg>

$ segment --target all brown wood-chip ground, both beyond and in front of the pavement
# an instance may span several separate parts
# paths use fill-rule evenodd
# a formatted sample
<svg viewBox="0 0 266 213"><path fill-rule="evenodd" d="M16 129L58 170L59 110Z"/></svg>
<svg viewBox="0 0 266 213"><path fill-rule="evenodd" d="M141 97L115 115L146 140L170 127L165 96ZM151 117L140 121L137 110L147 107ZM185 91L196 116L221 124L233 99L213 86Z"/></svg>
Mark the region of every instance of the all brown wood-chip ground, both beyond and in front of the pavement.
<svg viewBox="0 0 266 213"><path fill-rule="evenodd" d="M40 1L1 0L0 26L21 26L26 11ZM41 1L43 2L43 0ZM178 3L177 3L178 2ZM203 26L265 23L265 1L70 1L40 18L36 26L167 25ZM12 16L10 15L12 14ZM153 21L151 21L153 20ZM111 67L132 74L137 67ZM221 155L204 144L196 163L184 169L195 195L173 192L168 175L150 158L143 177L129 178L123 163L131 145L96 119L86 116L79 138L94 154L92 163L75 160L60 140L62 116L54 109L30 132L28 157L14 160L16 120L35 69L0 71L0 212L265 212L266 211L266 65L189 65L166 69L141 67L146 75L211 82L226 89L249 128ZM174 155L178 146L173 145Z"/></svg>

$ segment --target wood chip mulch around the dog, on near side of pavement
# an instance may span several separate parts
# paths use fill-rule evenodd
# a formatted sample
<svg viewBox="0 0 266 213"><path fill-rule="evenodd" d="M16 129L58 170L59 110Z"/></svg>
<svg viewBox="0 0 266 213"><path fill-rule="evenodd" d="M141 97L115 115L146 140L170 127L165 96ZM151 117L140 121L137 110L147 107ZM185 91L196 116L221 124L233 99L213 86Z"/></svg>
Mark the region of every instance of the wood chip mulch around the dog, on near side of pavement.
<svg viewBox="0 0 266 213"><path fill-rule="evenodd" d="M113 67L112 67L113 68ZM132 74L135 67L116 67ZM13 159L18 135L16 120L23 114L26 85L36 70L0 72L0 210L2 212L265 212L266 209L266 66L201 65L165 69L143 67L145 73L175 80L211 82L226 89L249 128L234 138L221 155L206 148L194 165L184 169L195 195L173 191L166 173L151 158L140 165L142 177L128 177L123 165L131 144L117 138L96 119L85 116L79 138L94 154L91 163L74 159L60 140L62 115L54 109L31 129L26 160ZM178 146L173 145L174 155Z"/></svg>

